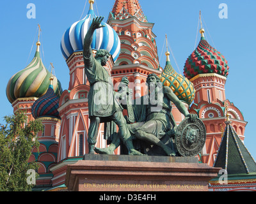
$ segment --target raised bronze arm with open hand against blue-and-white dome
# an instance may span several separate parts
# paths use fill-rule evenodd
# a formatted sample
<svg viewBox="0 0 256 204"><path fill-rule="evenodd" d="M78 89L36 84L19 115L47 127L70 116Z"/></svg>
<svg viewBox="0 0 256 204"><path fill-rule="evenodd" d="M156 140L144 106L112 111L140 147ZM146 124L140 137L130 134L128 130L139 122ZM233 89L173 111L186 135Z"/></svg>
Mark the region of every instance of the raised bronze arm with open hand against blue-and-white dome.
<svg viewBox="0 0 256 204"><path fill-rule="evenodd" d="M83 49L83 55L86 58L89 58L92 54L92 40L93 40L93 33L96 29L99 29L100 27L104 27L105 25L100 25L104 17L96 17L93 18L92 24L89 28L89 30L86 33L86 36L84 37L84 49Z"/></svg>

